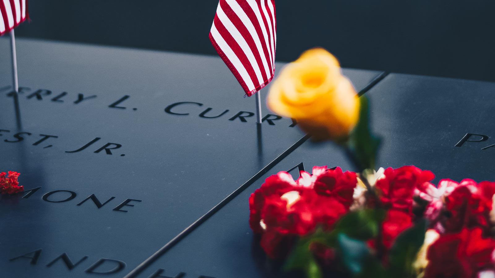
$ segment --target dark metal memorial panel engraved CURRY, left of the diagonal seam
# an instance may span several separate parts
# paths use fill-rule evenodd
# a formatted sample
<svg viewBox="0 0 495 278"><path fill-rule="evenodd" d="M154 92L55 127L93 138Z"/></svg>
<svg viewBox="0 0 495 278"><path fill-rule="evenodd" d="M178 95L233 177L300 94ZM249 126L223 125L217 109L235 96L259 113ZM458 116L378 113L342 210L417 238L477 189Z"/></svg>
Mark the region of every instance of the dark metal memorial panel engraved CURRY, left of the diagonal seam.
<svg viewBox="0 0 495 278"><path fill-rule="evenodd" d="M17 45L22 129L1 51L0 170L26 192L0 198L2 277L123 277L303 137L290 119L235 118L254 98L217 57ZM379 74L344 73L358 90Z"/></svg>

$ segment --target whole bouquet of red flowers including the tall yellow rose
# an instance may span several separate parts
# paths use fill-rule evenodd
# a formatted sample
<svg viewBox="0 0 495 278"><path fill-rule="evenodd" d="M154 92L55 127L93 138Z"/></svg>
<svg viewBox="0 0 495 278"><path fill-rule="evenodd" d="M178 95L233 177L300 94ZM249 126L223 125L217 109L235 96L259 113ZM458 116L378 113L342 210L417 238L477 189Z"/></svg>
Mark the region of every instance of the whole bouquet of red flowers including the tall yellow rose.
<svg viewBox="0 0 495 278"><path fill-rule="evenodd" d="M431 171L414 166L373 170L380 139L367 99L338 67L323 49L304 53L268 104L314 139L338 143L358 171L325 166L296 181L287 172L266 179L249 198L262 249L308 278L495 278L495 183L434 185Z"/></svg>

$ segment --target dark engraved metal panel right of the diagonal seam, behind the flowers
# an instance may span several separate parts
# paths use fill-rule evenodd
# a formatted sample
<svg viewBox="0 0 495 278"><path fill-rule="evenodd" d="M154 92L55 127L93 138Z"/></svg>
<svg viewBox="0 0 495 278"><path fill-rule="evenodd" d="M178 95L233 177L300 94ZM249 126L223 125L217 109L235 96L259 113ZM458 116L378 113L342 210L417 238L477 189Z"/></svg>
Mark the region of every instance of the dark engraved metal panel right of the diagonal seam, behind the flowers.
<svg viewBox="0 0 495 278"><path fill-rule="evenodd" d="M391 74L365 93L372 105L373 128L384 143L379 165L416 165L442 178L495 180L494 83ZM470 137L462 146L466 133ZM486 136L486 137L483 137ZM487 138L488 137L488 138ZM461 141L462 142L462 141ZM483 150L482 148L486 148ZM271 171L219 210L141 273L141 278L286 277L266 260L248 225L248 198L270 175L303 163L351 169L331 143L303 143ZM297 168L291 172L297 178Z"/></svg>

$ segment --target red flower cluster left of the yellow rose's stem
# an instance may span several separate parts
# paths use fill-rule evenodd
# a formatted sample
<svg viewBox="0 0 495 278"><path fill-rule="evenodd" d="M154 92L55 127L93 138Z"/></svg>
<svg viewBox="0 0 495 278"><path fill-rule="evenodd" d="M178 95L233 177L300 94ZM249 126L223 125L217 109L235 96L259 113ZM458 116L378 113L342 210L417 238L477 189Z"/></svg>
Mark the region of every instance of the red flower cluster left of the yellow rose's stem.
<svg viewBox="0 0 495 278"><path fill-rule="evenodd" d="M287 172L266 179L250 196L249 224L261 235L261 246L272 258L287 255L298 236L316 227L330 230L349 210L356 174L314 167L294 181Z"/></svg>

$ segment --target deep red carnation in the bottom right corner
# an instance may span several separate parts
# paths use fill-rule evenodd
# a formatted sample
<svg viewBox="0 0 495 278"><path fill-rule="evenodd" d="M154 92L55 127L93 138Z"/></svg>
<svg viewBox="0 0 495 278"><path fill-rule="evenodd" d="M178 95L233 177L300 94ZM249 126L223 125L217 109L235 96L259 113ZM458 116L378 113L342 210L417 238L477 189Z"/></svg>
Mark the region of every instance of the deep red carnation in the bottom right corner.
<svg viewBox="0 0 495 278"><path fill-rule="evenodd" d="M442 235L428 248L424 278L477 278L478 272L493 268L495 240L482 234L479 228L464 228Z"/></svg>

